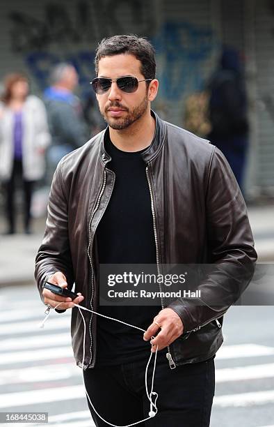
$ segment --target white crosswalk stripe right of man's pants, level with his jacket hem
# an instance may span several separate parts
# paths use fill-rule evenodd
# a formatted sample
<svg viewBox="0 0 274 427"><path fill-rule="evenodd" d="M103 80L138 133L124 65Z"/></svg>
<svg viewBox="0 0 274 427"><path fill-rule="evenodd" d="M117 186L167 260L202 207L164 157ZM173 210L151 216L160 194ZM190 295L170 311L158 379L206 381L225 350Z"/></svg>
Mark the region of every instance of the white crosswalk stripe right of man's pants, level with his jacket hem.
<svg viewBox="0 0 274 427"><path fill-rule="evenodd" d="M255 380L274 377L274 364L216 369L216 382Z"/></svg>

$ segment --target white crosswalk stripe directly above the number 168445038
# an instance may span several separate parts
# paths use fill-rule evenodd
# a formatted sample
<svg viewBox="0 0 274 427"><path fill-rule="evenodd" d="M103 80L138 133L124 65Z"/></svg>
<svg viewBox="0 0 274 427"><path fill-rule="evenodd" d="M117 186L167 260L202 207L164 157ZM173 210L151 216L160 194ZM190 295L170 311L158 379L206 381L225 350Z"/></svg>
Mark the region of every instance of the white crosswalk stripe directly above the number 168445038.
<svg viewBox="0 0 274 427"><path fill-rule="evenodd" d="M1 394L0 408L15 406L26 407L27 405L35 405L37 403L60 402L63 400L75 399L86 399L86 392L83 384Z"/></svg>

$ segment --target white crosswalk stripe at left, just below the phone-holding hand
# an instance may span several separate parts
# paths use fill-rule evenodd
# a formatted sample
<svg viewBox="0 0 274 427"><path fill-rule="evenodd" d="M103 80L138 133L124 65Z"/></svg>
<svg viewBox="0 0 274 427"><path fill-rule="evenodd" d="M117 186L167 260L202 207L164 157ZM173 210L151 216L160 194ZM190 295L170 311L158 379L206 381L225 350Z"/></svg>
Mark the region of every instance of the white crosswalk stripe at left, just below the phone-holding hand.
<svg viewBox="0 0 274 427"><path fill-rule="evenodd" d="M67 329L70 330L70 318L67 316L62 316L56 314L54 317L50 317L47 321L47 331L52 331L56 329ZM44 319L44 316L41 316L40 321ZM1 324L0 327L0 336L1 335L10 335L10 334L26 334L29 332L37 332L41 331L39 329L40 321L32 321L32 322L16 322L16 323L10 323L10 324ZM46 328L46 326L45 326Z"/></svg>

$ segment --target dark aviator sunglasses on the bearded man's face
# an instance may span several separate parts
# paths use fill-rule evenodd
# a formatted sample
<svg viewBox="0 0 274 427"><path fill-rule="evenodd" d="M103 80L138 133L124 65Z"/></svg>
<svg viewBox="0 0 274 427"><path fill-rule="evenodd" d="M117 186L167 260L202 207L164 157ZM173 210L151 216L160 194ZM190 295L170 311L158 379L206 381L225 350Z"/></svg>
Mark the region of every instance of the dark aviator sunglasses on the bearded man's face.
<svg viewBox="0 0 274 427"><path fill-rule="evenodd" d="M110 89L111 83L116 82L118 88L127 93L135 92L138 89L139 82L148 82L153 79L144 79L138 80L136 77L132 75L126 75L124 77L118 77L118 79L108 79L107 77L95 77L95 79L90 82L93 90L101 95Z"/></svg>

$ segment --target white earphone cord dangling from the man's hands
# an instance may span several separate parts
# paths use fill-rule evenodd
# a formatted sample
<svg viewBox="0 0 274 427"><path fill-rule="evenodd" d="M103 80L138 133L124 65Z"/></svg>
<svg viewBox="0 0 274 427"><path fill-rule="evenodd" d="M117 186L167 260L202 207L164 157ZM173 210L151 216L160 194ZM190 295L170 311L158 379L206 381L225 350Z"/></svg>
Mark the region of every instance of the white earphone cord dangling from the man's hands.
<svg viewBox="0 0 274 427"><path fill-rule="evenodd" d="M62 303L58 304L56 307L54 307L54 310L56 310L56 308L58 308L58 306L60 306ZM102 315L101 313L97 313L94 310L90 310L89 308L83 307L83 306L79 306L78 304L74 304L75 307L79 308L79 312L81 314L82 320L83 320L83 359L82 359L82 374L83 374L83 363L85 360L85 343L86 343L86 322L85 319L83 317L83 313L81 310L86 310L86 311L90 311L90 313L94 313L96 315L102 316L102 317L106 317L106 319L109 320L114 320L115 322L119 322L122 324L125 324L126 326L135 328L135 329L139 329L142 332L145 332L145 329L139 328L134 326L133 324L129 324L126 322L122 322L122 320L118 320L115 319L114 317L108 317L105 315ZM47 319L49 318L49 310L46 310L46 317L45 319L42 321L42 323L40 324L40 328L44 327L45 322L47 321ZM100 414L98 414L97 410L95 410L95 407L93 406L91 400L90 400L90 396L88 395L88 391L86 389L86 384L85 384L85 380L83 377L83 387L85 387L85 391L86 391L86 396L88 398L88 401L92 407L92 409L95 411L95 414L97 414L97 416L102 419L102 421L104 421L106 424L108 424L109 426L113 426L113 427L131 427L131 426L136 426L136 424L140 424L143 423L144 421L147 421L149 419L151 419L152 417L155 417L156 413L158 412L158 408L156 407L156 400L158 398L158 394L156 393L156 391L153 391L153 386L154 386L154 376L155 376L155 370L156 370L156 359L157 359L157 352L158 352L158 346L156 347L156 352L155 352L155 357L154 357L154 366L153 366L153 372L152 372L152 387L150 390L150 393L148 391L148 387L147 387L147 371L148 371L148 367L150 366L150 361L152 359L152 352L150 353L150 358L147 361L147 366L145 368L145 391L147 394L147 398L150 401L150 412L149 412L149 417L145 418L145 419L141 419L140 421L136 421L135 423L132 424L127 424L127 426L116 426L116 424L111 424L110 422L106 421L103 417L101 417ZM155 400L154 402L152 401L152 396L155 396Z"/></svg>

